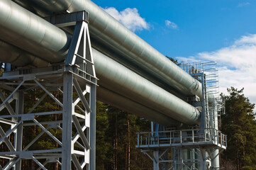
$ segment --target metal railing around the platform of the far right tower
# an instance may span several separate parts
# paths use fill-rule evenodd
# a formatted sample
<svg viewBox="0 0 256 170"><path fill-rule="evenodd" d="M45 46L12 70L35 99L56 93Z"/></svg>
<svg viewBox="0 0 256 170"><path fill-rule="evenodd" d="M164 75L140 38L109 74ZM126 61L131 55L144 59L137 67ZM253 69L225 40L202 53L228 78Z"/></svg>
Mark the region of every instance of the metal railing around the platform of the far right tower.
<svg viewBox="0 0 256 170"><path fill-rule="evenodd" d="M208 133L210 132L210 133ZM138 132L136 147L168 147L185 145L218 145L226 149L227 136L216 129Z"/></svg>

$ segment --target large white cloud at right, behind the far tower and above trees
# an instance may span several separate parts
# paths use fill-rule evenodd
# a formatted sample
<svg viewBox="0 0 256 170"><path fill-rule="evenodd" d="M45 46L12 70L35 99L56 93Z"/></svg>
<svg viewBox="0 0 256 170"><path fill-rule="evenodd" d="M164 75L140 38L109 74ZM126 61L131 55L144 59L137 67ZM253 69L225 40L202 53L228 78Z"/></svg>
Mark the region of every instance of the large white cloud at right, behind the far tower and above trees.
<svg viewBox="0 0 256 170"><path fill-rule="evenodd" d="M200 52L188 58L176 57L184 62L215 61L218 62L220 91L227 94L230 86L242 89L256 103L256 34L242 36L233 45L213 52Z"/></svg>

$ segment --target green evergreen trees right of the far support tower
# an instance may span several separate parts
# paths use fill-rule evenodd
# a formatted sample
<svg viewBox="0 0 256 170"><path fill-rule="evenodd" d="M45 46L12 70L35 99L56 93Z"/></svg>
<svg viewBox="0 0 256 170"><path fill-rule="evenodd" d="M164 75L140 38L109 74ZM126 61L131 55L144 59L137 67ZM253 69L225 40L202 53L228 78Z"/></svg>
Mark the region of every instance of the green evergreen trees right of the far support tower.
<svg viewBox="0 0 256 170"><path fill-rule="evenodd" d="M228 96L222 94L226 103L222 131L228 135L228 147L222 161L233 162L236 169L256 169L255 104L244 96L243 89L231 87L228 93Z"/></svg>

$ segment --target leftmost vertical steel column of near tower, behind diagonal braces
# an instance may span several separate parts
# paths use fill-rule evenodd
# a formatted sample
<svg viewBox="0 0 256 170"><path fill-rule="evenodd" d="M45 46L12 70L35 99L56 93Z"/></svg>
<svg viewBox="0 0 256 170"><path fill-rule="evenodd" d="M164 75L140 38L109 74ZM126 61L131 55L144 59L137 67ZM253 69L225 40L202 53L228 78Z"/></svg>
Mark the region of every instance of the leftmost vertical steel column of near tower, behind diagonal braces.
<svg viewBox="0 0 256 170"><path fill-rule="evenodd" d="M23 114L24 111L24 92L18 91L16 92L18 94L18 98L16 101L16 115ZM18 118L18 121L20 121L21 118ZM21 125L17 128L16 133L16 152L22 151L22 143L23 143L23 122L21 122ZM21 160L18 161L15 165L16 170L21 170Z"/></svg>

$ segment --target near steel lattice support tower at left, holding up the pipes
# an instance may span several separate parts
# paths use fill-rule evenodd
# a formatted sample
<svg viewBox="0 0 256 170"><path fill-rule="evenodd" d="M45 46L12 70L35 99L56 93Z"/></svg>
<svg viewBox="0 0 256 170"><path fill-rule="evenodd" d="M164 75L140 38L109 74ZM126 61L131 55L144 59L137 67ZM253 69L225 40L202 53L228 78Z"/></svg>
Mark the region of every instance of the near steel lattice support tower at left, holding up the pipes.
<svg viewBox="0 0 256 170"><path fill-rule="evenodd" d="M0 152L6 165L0 169L20 170L26 159L32 159L38 169L52 164L62 170L95 169L97 78L88 13L45 19L60 28L75 26L72 42L65 62L44 68L11 69L0 77L0 146L6 147ZM31 93L36 93L36 98L30 98ZM28 98L30 101L24 101ZM45 101L56 107L48 108ZM42 106L45 109L40 111ZM37 132L28 131L29 127ZM35 147L47 135L55 146Z"/></svg>

